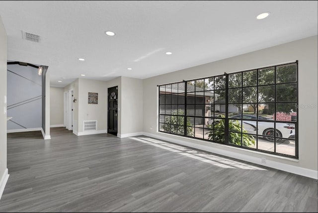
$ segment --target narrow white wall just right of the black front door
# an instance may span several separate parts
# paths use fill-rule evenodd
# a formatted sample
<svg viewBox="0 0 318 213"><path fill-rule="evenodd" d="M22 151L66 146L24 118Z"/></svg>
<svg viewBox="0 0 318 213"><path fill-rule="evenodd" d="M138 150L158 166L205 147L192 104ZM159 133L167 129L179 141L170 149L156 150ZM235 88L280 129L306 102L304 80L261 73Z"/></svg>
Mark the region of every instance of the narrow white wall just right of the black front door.
<svg viewBox="0 0 318 213"><path fill-rule="evenodd" d="M121 77L121 135L143 131L143 80Z"/></svg>

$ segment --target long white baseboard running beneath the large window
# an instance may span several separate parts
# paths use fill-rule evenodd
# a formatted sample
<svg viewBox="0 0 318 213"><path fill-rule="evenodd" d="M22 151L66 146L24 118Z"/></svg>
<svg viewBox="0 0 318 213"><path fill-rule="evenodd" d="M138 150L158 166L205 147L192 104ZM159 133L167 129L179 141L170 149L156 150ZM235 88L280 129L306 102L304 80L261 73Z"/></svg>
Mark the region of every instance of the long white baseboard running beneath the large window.
<svg viewBox="0 0 318 213"><path fill-rule="evenodd" d="M266 164L264 164L264 163L261 163L261 158L259 158L259 157L254 157L254 156L250 156L250 155L244 155L244 154L240 154L240 153L237 153L237 152L234 152L234 151L228 151L228 150L219 149L219 148L215 148L215 147L205 146L205 145L202 145L202 144L191 143L191 142L183 141L183 140L180 140L180 139L165 137L164 135L157 135L157 134L148 133L148 132L142 132L142 133L145 136L149 136L149 137L154 137L154 138L161 139L161 140L170 141L172 143L176 143L176 144L180 144L180 145L184 145L184 146L189 146L189 147L192 147L192 148L196 148L196 149L200 149L200 150L216 153L216 154L223 155L223 156L236 158L236 159L239 159L239 160L255 163L255 164L258 164L258 165L262 165L262 166L266 166L266 167L282 170L282 171L285 171L285 172L290 172L290 173L293 173L293 174L297 174L297 175L302 175L302 176L305 176L305 177L313 178L313 179L316 179L316 180L318 179L318 171L316 171L316 170L306 169L306 168L293 166L293 165L289 165L289 164L285 164L285 163L280 163L280 162L276 162L276 161L272 161L272 160L268 160L268 159L266 160ZM164 133L162 133L162 134L164 134ZM226 146L226 145L222 145L222 144L217 144L217 145ZM262 153L260 153L260 154L262 154ZM268 154L264 154L264 156L268 156ZM291 159L291 161L298 161L298 160Z"/></svg>

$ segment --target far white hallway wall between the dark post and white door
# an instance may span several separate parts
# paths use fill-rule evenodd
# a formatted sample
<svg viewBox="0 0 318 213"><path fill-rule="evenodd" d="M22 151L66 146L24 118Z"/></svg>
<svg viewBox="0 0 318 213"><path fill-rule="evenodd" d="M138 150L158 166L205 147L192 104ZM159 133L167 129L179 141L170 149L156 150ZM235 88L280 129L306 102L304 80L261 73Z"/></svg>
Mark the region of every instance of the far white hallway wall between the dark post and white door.
<svg viewBox="0 0 318 213"><path fill-rule="evenodd" d="M64 125L64 88L50 87L50 126Z"/></svg>

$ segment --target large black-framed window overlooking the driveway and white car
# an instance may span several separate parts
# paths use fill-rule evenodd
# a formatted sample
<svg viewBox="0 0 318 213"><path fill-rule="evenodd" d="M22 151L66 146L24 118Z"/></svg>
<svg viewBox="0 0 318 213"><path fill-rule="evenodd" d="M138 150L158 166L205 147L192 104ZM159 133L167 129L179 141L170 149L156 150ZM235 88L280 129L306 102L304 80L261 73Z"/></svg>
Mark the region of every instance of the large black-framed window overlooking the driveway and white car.
<svg viewBox="0 0 318 213"><path fill-rule="evenodd" d="M298 158L298 61L159 86L159 131Z"/></svg>

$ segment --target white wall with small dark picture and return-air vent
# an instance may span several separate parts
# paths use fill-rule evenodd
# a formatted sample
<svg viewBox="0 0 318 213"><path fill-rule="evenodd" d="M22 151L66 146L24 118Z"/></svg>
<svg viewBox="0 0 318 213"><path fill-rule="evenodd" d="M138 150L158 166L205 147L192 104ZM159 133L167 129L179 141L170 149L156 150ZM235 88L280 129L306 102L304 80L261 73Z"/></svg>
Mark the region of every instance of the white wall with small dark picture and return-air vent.
<svg viewBox="0 0 318 213"><path fill-rule="evenodd" d="M88 93L98 93L98 104L88 104ZM107 131L107 88L106 82L79 79L79 134L84 120L97 120L97 131Z"/></svg>

